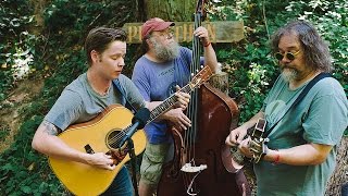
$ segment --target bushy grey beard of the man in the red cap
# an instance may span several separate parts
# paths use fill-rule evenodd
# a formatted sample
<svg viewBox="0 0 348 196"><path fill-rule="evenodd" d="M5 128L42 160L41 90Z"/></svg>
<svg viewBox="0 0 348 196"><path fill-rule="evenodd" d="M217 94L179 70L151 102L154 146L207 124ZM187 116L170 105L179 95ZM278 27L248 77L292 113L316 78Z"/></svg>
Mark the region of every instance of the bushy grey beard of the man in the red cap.
<svg viewBox="0 0 348 196"><path fill-rule="evenodd" d="M167 46L163 46L156 38L150 38L156 57L161 61L171 61L178 57L179 46L176 41L172 41Z"/></svg>

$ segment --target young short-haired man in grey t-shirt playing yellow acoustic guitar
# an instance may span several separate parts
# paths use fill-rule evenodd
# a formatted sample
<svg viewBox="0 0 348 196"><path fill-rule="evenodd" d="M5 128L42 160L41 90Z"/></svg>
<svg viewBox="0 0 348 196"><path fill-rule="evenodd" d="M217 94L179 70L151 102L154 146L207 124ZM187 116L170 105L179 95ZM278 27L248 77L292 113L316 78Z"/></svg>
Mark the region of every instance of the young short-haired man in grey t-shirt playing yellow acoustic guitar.
<svg viewBox="0 0 348 196"><path fill-rule="evenodd" d="M127 100L138 110L146 107L147 103L133 82L121 74L126 54L126 33L124 30L105 27L91 29L86 38L85 50L88 71L65 87L37 128L32 146L49 157L114 170L125 155L116 152L110 155L105 151L87 154L76 150L64 143L58 134L72 124L92 120L111 105L125 105ZM113 82L117 82L120 87L117 88ZM189 95L176 93L176 107L185 109ZM114 119L114 121L120 121L120 119ZM98 182L95 183L98 184ZM134 189L125 167L122 167L103 194L133 196Z"/></svg>

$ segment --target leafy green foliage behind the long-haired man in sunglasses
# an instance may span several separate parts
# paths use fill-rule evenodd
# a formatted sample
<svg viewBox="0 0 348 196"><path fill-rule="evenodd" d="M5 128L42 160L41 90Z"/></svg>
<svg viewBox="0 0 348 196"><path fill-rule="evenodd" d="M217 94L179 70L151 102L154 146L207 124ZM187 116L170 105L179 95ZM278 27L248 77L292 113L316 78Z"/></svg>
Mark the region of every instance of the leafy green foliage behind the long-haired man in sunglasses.
<svg viewBox="0 0 348 196"><path fill-rule="evenodd" d="M348 35L348 5L344 0L334 3L319 0L222 0L216 5L212 9L211 20L237 19L243 20L246 26L244 41L233 46L220 45L216 48L217 59L226 63L223 70L231 75L229 91L241 110L240 123L259 111L268 89L278 74L276 62L270 56L270 36L293 20L306 19L312 22L330 42L336 68L334 76L343 84L347 94L348 46L345 40Z"/></svg>

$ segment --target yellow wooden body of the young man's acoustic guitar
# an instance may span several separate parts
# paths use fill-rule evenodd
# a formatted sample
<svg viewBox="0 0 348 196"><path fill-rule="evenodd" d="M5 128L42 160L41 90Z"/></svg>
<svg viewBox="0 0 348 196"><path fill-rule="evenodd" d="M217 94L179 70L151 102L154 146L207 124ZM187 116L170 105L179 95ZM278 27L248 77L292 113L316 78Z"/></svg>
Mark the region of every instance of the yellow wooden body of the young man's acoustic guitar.
<svg viewBox="0 0 348 196"><path fill-rule="evenodd" d="M121 105L107 108L94 120L69 126L59 137L70 147L86 152L85 146L95 152L108 152L108 135L123 130L132 124L133 113ZM139 155L146 146L146 135L142 130L136 132L134 140L135 154ZM51 169L65 187L74 195L100 195L110 186L120 169L129 160L127 155L113 171L99 169L89 164L66 161L49 157Z"/></svg>

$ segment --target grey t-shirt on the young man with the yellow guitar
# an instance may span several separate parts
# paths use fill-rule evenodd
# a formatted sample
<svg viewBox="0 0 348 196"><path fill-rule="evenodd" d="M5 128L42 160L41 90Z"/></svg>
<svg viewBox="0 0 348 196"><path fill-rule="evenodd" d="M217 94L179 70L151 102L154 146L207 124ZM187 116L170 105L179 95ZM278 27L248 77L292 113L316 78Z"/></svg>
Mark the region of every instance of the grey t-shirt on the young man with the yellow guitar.
<svg viewBox="0 0 348 196"><path fill-rule="evenodd" d="M145 107L142 96L134 83L125 75L120 75L119 81L123 87L125 98L133 107ZM67 85L58 98L45 120L54 124L62 131L69 125L89 121L114 103L123 103L122 95L112 85L105 96L96 93L87 79L87 74L79 75Z"/></svg>

